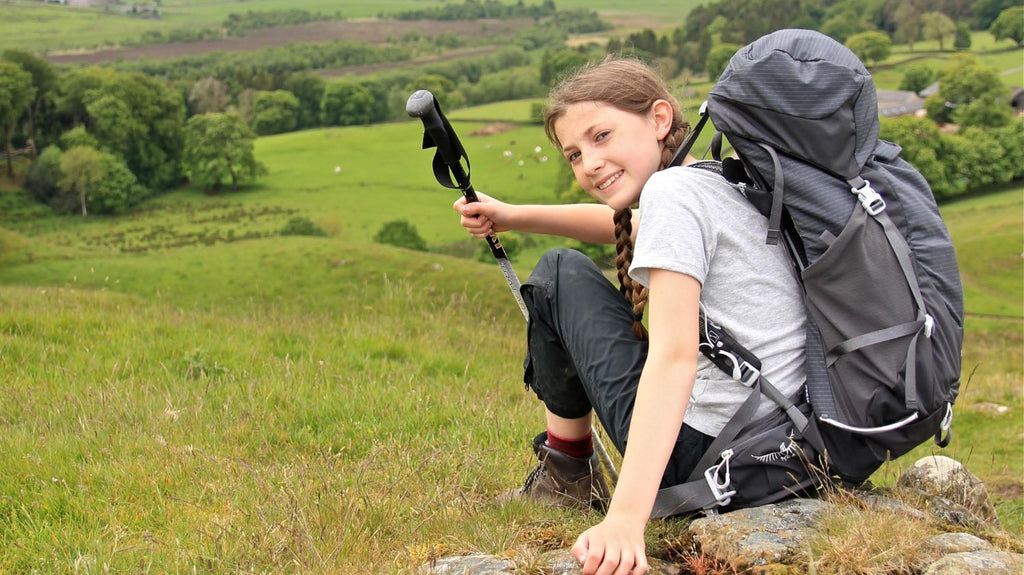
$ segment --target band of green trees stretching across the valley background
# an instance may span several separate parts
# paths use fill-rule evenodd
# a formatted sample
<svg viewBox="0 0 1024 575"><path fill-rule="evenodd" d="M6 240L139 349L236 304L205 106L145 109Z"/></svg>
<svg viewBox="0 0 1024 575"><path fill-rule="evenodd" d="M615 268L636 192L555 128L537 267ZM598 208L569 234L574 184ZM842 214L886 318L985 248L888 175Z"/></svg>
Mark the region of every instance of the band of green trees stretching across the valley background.
<svg viewBox="0 0 1024 575"><path fill-rule="evenodd" d="M3 149L25 147L36 156L23 184L36 198L83 215L118 212L185 181L211 191L237 188L262 172L252 154L256 136L404 118L406 99L415 89L431 90L449 109L540 97L562 74L610 52L642 57L677 79L697 69L714 77L740 43L753 40L762 28L770 29L784 13L803 14L796 18L798 23L806 16L811 18L809 25L825 27L853 8L862 9L853 19L864 30L848 36L846 43L865 62L888 56L885 50L891 48L892 40L886 30L897 26L891 17L919 4L929 9L946 6L958 15L971 10L974 19L970 21L987 21L993 36L1019 44L1024 36L1020 30L1024 7L1014 5L990 13L1007 3L752 0L743 3L743 18L725 18L723 14L739 6L736 0L722 0L694 9L696 21L710 17L702 28L687 19L668 34L644 30L625 39L613 38L606 46L574 48L565 47L564 23L571 18L550 17L518 32L509 46L490 55L341 80L326 80L313 71L339 61L402 61L413 53L412 46L422 47L428 40L412 34L383 48L353 42L293 45L257 53L213 53L79 69L55 68L36 54L7 50L0 56L0 130ZM490 4L494 0L466 2L467 6ZM753 12L753 8L762 11ZM927 13L919 13L914 20L922 29ZM698 32L692 40L694 30ZM677 57L705 45L707 55L692 68L687 67L690 60ZM1011 121L1008 94L995 71L965 59L941 76L912 67L904 82L916 91L936 79L941 88L926 102L930 118L926 122L961 124L975 130L971 139L956 140L964 136L945 134L892 139L903 144L906 156L936 182L937 194L952 195L1024 176L1019 166L1011 165L1024 147L1021 123ZM905 127L901 122L891 128L899 135L907 130L934 135L922 125ZM964 144L977 139L978 131L984 132L987 146L995 146L989 151L1000 162L965 164L974 156L973 150L963 149ZM10 156L6 168L12 176ZM995 166L998 173L986 172Z"/></svg>

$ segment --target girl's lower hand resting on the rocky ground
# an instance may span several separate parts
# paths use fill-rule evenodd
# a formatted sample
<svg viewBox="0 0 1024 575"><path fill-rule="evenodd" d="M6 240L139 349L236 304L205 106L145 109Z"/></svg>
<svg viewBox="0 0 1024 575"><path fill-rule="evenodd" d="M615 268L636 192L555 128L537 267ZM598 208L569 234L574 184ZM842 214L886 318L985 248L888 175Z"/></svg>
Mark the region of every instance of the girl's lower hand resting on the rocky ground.
<svg viewBox="0 0 1024 575"><path fill-rule="evenodd" d="M609 515L580 535L572 557L585 575L643 575L647 573L645 525Z"/></svg>

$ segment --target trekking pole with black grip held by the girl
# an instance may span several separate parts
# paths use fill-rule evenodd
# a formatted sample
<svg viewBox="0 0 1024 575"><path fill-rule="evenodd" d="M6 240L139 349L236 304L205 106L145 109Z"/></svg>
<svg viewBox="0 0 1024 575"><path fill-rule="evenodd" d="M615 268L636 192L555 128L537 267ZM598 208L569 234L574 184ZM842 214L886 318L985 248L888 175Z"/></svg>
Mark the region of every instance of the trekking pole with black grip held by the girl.
<svg viewBox="0 0 1024 575"><path fill-rule="evenodd" d="M409 101L406 102L406 112L413 118L419 118L423 121L423 149L437 148L433 160L434 177L437 178L437 182L446 188L461 190L466 202L479 202L476 190L473 189L473 184L469 181L469 157L466 156L466 149L462 147L459 136L456 135L452 124L441 112L441 106L433 94L428 90L413 92L413 95L409 96ZM463 160L466 161L466 168L462 167ZM505 248L502 247L501 240L498 239L498 235L494 231L488 233L484 239L487 240L490 254L494 255L498 265L502 268L502 274L505 275L505 281L512 291L516 304L519 305L519 311L522 312L526 321L529 321L526 302L522 300L522 294L519 293L521 285L519 276L515 274ZM604 465L612 481L617 481L618 473L615 471L615 465L604 448L604 443L601 442L597 430L594 430L593 436L598 458Z"/></svg>

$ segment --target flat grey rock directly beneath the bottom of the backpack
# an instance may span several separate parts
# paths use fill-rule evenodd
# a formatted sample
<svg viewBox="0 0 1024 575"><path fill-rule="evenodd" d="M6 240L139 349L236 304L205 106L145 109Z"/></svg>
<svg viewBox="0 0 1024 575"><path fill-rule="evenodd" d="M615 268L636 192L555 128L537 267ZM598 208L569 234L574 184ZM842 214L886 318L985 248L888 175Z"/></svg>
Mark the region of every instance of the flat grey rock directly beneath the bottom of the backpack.
<svg viewBox="0 0 1024 575"><path fill-rule="evenodd" d="M696 519L689 532L702 552L743 571L785 563L803 552L807 528L826 505L818 499L790 499Z"/></svg>

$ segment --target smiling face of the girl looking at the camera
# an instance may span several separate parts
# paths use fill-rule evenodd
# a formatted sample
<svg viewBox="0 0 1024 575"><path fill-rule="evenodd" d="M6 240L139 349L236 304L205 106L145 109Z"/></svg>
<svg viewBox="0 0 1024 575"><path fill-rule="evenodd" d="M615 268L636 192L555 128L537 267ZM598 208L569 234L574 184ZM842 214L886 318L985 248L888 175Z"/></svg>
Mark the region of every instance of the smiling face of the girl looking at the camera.
<svg viewBox="0 0 1024 575"><path fill-rule="evenodd" d="M665 100L643 115L590 101L570 104L554 129L584 190L621 210L637 203L659 168L671 124L672 107Z"/></svg>

